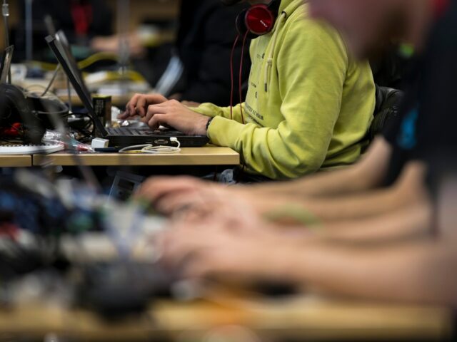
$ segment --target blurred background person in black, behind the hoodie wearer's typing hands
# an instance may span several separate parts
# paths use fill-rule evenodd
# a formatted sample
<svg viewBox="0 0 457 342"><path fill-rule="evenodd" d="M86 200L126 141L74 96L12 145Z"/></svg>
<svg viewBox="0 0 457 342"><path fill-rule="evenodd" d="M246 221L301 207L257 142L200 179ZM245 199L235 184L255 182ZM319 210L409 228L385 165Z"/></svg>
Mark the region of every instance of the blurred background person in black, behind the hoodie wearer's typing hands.
<svg viewBox="0 0 457 342"><path fill-rule="evenodd" d="M236 37L234 22L246 5L226 8L220 0L181 1L179 30L176 42L156 50L157 56L147 55L147 43L139 31L129 33L131 56L136 66L157 92L175 100L193 103L211 102L229 105L231 93L230 59ZM91 41L96 51L119 51L119 36L96 37ZM241 44L233 50L233 61L241 61ZM168 56L170 55L170 56ZM152 63L152 66L151 66ZM167 67L168 64L168 67ZM243 51L241 86L246 95L251 60L248 50ZM238 82L233 93L238 94Z"/></svg>

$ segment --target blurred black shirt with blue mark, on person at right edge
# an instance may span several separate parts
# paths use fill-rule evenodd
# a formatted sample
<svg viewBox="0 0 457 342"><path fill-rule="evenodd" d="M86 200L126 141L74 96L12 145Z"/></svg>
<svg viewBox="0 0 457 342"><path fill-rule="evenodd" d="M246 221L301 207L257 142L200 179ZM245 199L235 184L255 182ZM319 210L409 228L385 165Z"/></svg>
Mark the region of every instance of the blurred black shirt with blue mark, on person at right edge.
<svg viewBox="0 0 457 342"><path fill-rule="evenodd" d="M428 40L403 102L402 115L388 125L393 146L386 183L409 160L426 160L430 151L457 145L457 0L439 19Z"/></svg>

